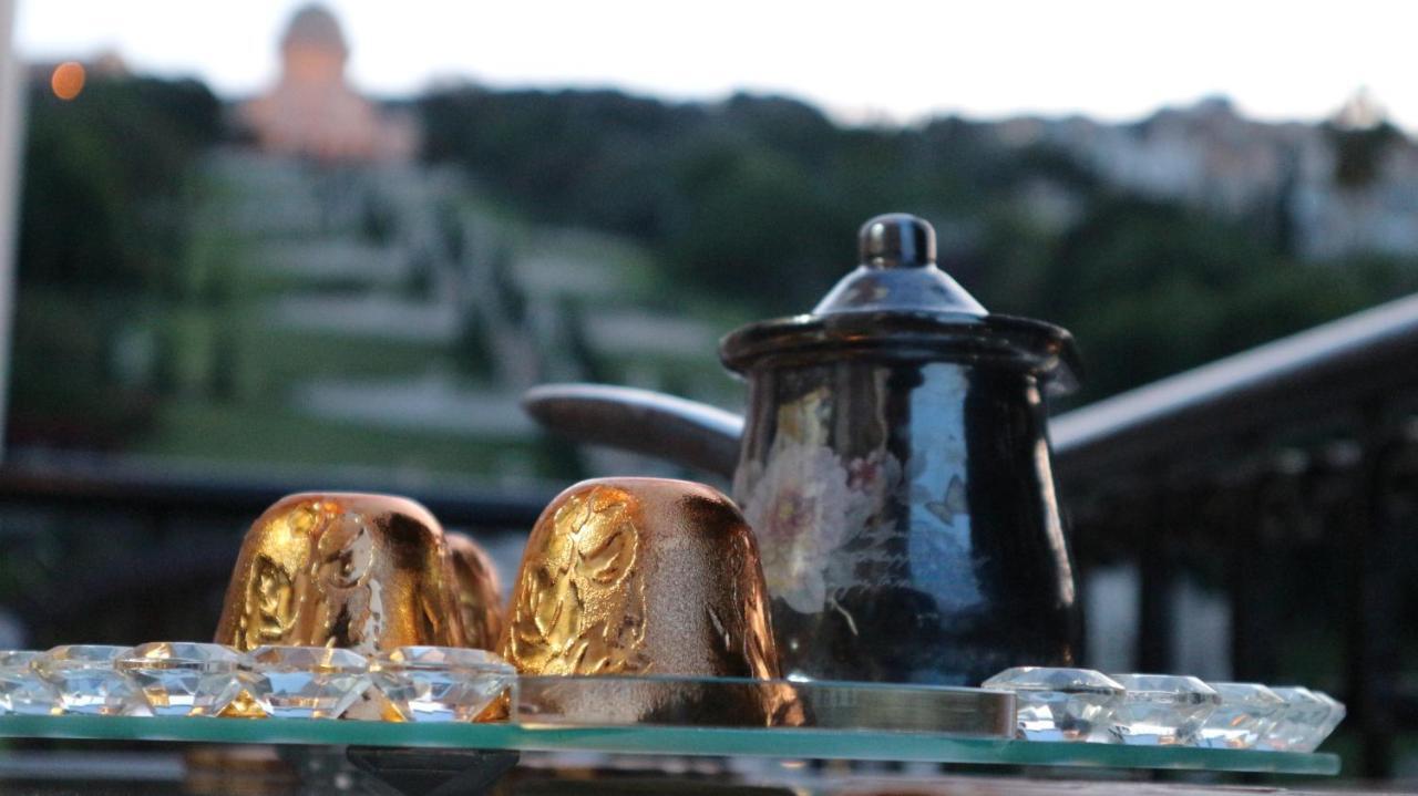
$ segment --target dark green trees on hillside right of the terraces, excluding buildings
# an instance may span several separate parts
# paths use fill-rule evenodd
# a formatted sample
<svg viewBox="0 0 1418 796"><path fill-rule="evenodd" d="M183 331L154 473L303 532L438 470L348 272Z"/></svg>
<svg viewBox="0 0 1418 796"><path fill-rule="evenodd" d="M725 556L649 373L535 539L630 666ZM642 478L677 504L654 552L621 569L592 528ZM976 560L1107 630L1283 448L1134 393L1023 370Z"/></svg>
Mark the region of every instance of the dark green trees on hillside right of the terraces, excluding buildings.
<svg viewBox="0 0 1418 796"><path fill-rule="evenodd" d="M1418 268L1392 258L1296 262L1285 197L1217 218L1127 195L1065 153L1004 147L954 118L845 127L783 98L476 86L420 105L427 157L465 166L536 220L634 237L676 290L756 313L810 307L852 262L869 215L925 215L946 268L987 306L1073 330L1089 363L1083 398L1418 289ZM1374 159L1373 147L1360 154ZM1351 159L1340 169L1351 184ZM1038 218L1021 200L1038 184L1076 211Z"/></svg>

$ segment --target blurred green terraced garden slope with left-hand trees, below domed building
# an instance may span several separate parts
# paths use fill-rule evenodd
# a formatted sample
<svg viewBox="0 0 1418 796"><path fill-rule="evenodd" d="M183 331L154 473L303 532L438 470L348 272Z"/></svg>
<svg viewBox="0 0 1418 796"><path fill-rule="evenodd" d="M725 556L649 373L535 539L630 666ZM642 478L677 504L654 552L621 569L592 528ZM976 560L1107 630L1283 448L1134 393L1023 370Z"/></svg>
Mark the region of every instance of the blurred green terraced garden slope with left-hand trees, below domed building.
<svg viewBox="0 0 1418 796"><path fill-rule="evenodd" d="M196 84L65 102L40 74L30 102L11 459L564 482L600 453L537 433L535 384L742 397L715 340L743 316L657 312L624 237L529 224L451 166L262 149Z"/></svg>

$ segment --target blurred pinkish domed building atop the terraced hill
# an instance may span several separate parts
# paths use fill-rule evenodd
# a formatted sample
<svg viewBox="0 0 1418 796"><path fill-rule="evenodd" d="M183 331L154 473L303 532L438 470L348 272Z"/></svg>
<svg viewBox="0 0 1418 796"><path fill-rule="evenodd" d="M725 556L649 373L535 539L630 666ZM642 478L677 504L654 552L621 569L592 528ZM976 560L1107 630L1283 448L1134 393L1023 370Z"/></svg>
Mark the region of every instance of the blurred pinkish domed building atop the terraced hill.
<svg viewBox="0 0 1418 796"><path fill-rule="evenodd" d="M417 142L407 118L389 116L345 79L349 44L339 20L302 7L281 37L281 78L242 105L241 119L267 152L322 161L407 160Z"/></svg>

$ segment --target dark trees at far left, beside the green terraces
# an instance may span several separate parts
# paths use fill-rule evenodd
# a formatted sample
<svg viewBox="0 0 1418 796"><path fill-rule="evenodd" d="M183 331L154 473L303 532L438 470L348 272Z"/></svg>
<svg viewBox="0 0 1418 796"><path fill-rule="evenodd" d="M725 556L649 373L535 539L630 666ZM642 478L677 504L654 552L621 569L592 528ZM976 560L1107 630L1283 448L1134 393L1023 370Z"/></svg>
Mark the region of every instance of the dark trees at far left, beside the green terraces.
<svg viewBox="0 0 1418 796"><path fill-rule="evenodd" d="M72 102L44 82L27 101L9 440L116 445L152 401L119 384L115 333L186 279L221 103L194 81L105 75Z"/></svg>

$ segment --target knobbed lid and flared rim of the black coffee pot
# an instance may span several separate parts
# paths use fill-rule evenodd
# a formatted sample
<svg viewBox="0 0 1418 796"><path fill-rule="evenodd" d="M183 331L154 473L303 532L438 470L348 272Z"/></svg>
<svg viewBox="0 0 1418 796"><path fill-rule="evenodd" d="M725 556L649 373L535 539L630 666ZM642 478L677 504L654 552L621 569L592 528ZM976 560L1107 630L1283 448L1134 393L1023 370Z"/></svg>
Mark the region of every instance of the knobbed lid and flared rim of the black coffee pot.
<svg viewBox="0 0 1418 796"><path fill-rule="evenodd" d="M1037 373L1054 392L1076 385L1073 337L1039 320L991 313L936 265L936 232L905 212L858 234L859 265L810 314L750 323L719 344L723 364L749 373L784 356L827 361L852 353L998 364Z"/></svg>

